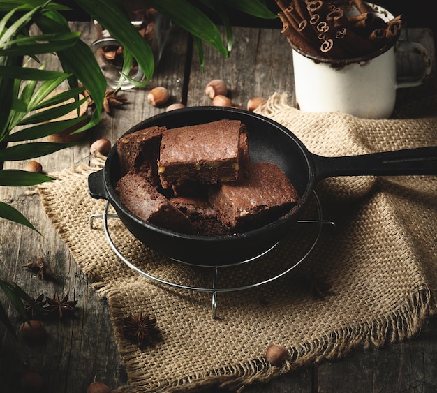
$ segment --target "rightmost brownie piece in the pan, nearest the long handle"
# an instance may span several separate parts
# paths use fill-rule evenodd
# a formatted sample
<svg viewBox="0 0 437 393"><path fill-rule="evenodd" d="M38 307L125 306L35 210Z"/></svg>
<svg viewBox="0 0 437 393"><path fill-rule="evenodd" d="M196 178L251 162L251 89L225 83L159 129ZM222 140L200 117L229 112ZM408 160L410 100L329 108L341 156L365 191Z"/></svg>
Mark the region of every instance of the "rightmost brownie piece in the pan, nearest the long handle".
<svg viewBox="0 0 437 393"><path fill-rule="evenodd" d="M223 225L236 232L259 228L286 214L299 195L274 163L249 163L237 184L212 187L209 202Z"/></svg>

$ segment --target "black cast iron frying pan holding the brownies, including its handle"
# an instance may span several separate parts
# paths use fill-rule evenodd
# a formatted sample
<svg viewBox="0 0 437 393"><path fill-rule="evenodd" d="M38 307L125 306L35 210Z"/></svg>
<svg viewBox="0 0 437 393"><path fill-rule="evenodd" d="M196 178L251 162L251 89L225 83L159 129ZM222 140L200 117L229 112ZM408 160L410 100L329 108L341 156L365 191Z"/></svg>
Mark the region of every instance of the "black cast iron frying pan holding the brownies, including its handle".
<svg viewBox="0 0 437 393"><path fill-rule="evenodd" d="M243 262L265 253L295 225L313 193L326 177L358 175L437 175L437 147L423 147L346 157L312 154L287 128L259 114L228 107L188 107L163 112L131 128L175 128L220 119L238 119L249 132L252 161L274 162L286 173L300 195L298 204L285 216L257 230L239 235L204 237L172 232L140 220L121 205L114 191L119 179L117 147L108 154L105 167L89 175L89 193L108 200L126 228L140 242L169 258L193 265L220 266Z"/></svg>

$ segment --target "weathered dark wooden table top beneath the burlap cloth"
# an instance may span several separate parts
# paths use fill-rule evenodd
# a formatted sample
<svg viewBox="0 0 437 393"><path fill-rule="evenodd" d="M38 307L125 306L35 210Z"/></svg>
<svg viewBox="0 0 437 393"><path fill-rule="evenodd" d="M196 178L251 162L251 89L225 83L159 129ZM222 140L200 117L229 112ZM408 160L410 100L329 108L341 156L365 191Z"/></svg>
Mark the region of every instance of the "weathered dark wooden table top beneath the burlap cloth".
<svg viewBox="0 0 437 393"><path fill-rule="evenodd" d="M72 29L82 31L82 39L93 39L91 24L73 22ZM246 108L252 97L268 98L275 91L289 94L293 103L292 52L279 29L236 27L235 46L230 58L223 59L205 45L205 72L192 52L188 36L172 32L163 59L153 80L145 89L125 91L126 104L103 114L101 124L80 146L39 158L45 172L54 172L78 163L89 163L89 145L105 137L115 142L138 122L165 111L147 103L147 93L156 86L167 87L171 103L187 106L209 105L205 85L220 78L230 88L234 105ZM434 41L427 29L408 29L404 36L425 45L435 59ZM406 66L410 63L406 61ZM53 65L56 68L56 65ZM403 99L413 91L402 91ZM24 163L7 163L6 168L23 168ZM47 340L29 345L6 332L0 325L0 392L20 392L20 372L33 368L45 380L45 392L86 392L93 380L101 380L112 389L128 383L114 341L108 304L98 297L52 223L45 216L34 188L0 188L0 200L20 210L42 235L23 226L0 220L0 278L13 281L37 297L69 292L77 299L75 318L47 324ZM105 245L102 245L105 246ZM41 281L22 265L42 257L59 276L57 282ZM20 320L4 301L14 325ZM210 391L210 390L209 390ZM265 385L253 385L246 392L435 392L437 391L437 319L430 318L417 337L378 350L355 350L335 361L320 362Z"/></svg>

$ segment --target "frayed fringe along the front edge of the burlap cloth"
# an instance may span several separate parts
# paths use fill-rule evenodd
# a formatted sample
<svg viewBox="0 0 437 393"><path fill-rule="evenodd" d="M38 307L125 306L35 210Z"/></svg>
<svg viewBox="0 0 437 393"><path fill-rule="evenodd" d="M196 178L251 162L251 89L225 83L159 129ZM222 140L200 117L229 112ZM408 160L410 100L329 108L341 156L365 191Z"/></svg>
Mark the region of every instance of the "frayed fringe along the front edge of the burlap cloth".
<svg viewBox="0 0 437 393"><path fill-rule="evenodd" d="M244 389L255 383L267 383L273 378L295 371L302 366L308 366L313 362L324 359L336 359L344 357L353 349L380 348L385 343L395 343L409 339L420 331L427 318L431 294L428 288L417 288L401 308L394 310L390 315L373 323L364 323L346 327L320 337L316 341L302 343L299 347L288 348L289 359L281 367L272 366L265 357L253 359L251 362L236 364L229 368L216 369L201 375L186 376L182 380L176 380L167 386L154 389L154 392L190 392L204 391L207 388L221 387L235 392L243 392ZM117 318L114 316L121 313L119 297L110 294L108 302L112 308L112 322L117 329ZM119 344L119 343L118 343ZM140 371L128 366L128 375L135 376ZM138 374L140 377L141 375ZM134 385L123 386L117 389L122 393L139 393ZM150 390L152 391L152 390Z"/></svg>

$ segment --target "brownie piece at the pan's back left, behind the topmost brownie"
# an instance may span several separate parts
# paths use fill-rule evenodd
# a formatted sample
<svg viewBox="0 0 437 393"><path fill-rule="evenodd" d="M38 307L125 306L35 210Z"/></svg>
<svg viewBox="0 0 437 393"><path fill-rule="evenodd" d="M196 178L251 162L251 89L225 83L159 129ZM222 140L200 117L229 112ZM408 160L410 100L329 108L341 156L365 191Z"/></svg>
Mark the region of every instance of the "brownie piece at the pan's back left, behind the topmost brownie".
<svg viewBox="0 0 437 393"><path fill-rule="evenodd" d="M124 135L117 140L117 153L121 175L128 172L142 172L156 185L161 138L165 127L149 127Z"/></svg>

